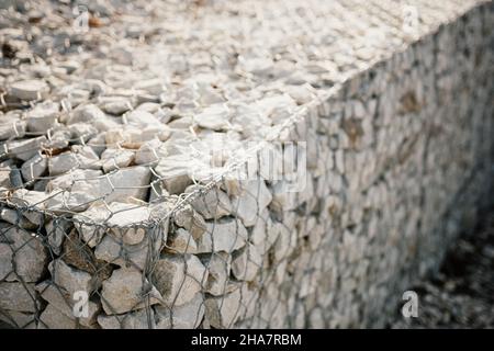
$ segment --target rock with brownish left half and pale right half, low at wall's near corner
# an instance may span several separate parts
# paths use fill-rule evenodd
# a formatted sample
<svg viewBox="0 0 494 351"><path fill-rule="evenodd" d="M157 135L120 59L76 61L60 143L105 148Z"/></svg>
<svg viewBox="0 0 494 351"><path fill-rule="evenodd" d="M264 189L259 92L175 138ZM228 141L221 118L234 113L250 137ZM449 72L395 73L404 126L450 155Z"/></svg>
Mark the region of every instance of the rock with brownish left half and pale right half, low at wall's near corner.
<svg viewBox="0 0 494 351"><path fill-rule="evenodd" d="M173 308L191 302L202 291L207 271L195 256L162 256L153 267L151 276L165 306Z"/></svg>

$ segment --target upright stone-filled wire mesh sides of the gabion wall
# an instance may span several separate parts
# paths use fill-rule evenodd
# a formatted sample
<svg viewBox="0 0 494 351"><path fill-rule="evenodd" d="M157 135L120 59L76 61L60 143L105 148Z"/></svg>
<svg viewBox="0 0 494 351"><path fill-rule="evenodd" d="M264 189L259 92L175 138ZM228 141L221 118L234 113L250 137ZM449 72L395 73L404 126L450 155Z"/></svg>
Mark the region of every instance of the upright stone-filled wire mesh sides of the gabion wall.
<svg viewBox="0 0 494 351"><path fill-rule="evenodd" d="M489 201L493 27L492 4L475 7L287 118L267 147L306 143L302 191L263 177L259 148L254 179L197 184L160 177L150 148L141 166L122 168L120 155L105 177L60 177L48 193L19 186L40 177L43 140L10 144L9 157L32 165L2 181L0 318L20 328L384 326ZM157 195L145 202L149 183Z"/></svg>

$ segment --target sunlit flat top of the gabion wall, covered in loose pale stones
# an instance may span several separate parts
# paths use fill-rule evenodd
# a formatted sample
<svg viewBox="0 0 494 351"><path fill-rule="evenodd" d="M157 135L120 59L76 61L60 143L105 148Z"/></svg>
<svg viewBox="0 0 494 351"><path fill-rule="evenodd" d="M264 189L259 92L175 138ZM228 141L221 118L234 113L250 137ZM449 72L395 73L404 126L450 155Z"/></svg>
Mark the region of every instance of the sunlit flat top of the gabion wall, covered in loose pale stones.
<svg viewBox="0 0 494 351"><path fill-rule="evenodd" d="M1 201L109 226L159 222L341 82L482 2L1 9Z"/></svg>

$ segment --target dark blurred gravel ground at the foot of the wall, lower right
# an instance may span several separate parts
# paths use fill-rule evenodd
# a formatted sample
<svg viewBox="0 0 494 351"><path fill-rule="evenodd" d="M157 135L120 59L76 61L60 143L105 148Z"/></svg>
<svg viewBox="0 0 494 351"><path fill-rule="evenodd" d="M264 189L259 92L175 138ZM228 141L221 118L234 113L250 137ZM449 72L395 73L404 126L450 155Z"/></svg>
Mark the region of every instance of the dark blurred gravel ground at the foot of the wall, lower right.
<svg viewBox="0 0 494 351"><path fill-rule="evenodd" d="M405 319L400 306L391 328L494 328L494 208L456 242L434 279L409 290L418 317Z"/></svg>

